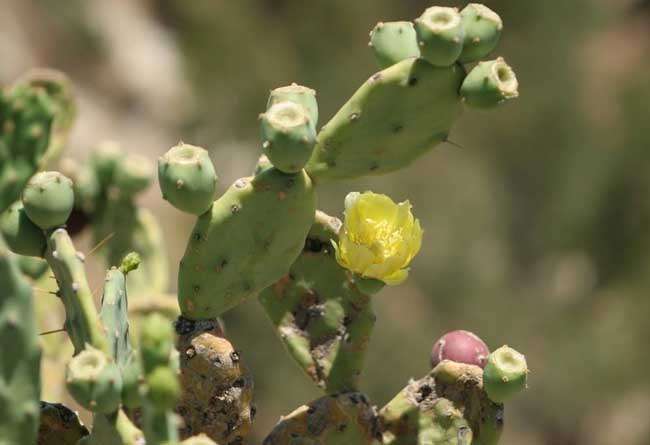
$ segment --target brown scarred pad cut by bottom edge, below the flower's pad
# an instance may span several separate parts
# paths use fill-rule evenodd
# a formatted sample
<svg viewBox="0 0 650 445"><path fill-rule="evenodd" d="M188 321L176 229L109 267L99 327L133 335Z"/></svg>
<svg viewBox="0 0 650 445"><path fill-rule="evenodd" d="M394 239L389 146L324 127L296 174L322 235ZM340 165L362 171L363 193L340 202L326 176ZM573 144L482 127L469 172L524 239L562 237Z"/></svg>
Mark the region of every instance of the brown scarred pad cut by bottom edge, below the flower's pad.
<svg viewBox="0 0 650 445"><path fill-rule="evenodd" d="M263 443L371 445L377 435L376 413L367 397L346 392L322 397L283 416Z"/></svg>

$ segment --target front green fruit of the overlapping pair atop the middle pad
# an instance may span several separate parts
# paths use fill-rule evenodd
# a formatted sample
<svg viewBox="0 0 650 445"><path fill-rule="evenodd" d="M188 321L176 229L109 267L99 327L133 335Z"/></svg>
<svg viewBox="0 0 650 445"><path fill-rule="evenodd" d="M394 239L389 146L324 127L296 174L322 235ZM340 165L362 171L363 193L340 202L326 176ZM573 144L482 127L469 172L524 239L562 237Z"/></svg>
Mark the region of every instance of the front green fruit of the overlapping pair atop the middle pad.
<svg viewBox="0 0 650 445"><path fill-rule="evenodd" d="M316 129L307 109L294 102L279 102L260 115L262 149L275 168L297 173L316 144Z"/></svg>

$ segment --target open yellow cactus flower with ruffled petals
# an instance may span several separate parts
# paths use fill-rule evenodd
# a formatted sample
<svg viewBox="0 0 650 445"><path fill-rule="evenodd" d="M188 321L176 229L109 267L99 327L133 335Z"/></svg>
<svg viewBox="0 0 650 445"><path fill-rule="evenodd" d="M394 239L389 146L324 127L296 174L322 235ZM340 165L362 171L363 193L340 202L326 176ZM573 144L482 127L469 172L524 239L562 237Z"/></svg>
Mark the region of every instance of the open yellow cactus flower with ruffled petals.
<svg viewBox="0 0 650 445"><path fill-rule="evenodd" d="M408 201L396 204L386 195L349 193L345 220L334 243L336 260L348 270L389 285L403 282L422 244L420 221Z"/></svg>

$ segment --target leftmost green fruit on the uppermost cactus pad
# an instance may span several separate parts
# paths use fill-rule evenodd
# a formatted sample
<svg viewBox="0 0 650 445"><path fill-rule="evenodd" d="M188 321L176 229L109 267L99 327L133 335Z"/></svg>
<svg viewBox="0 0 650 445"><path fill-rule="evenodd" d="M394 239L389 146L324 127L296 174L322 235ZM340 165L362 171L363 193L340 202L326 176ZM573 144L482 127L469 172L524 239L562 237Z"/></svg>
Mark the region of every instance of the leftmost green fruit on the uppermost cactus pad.
<svg viewBox="0 0 650 445"><path fill-rule="evenodd" d="M404 59L420 57L420 48L411 22L379 22L370 31L370 46L381 69Z"/></svg>

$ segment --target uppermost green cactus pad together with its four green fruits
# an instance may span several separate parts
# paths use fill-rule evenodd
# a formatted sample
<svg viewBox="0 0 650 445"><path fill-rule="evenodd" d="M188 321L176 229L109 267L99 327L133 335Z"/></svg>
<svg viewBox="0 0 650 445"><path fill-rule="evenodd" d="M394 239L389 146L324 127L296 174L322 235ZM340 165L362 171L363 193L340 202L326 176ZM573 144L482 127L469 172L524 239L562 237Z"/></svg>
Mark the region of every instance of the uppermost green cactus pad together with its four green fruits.
<svg viewBox="0 0 650 445"><path fill-rule="evenodd" d="M318 182L398 170L448 140L463 103L488 108L517 97L516 76L503 59L469 75L461 65L487 56L502 27L495 12L476 4L461 13L431 7L415 28L379 23L370 46L383 71L321 129L309 175Z"/></svg>

